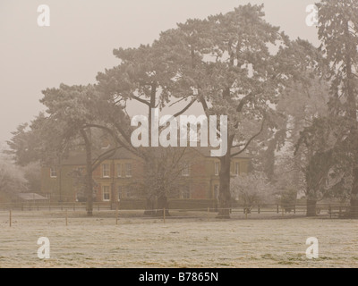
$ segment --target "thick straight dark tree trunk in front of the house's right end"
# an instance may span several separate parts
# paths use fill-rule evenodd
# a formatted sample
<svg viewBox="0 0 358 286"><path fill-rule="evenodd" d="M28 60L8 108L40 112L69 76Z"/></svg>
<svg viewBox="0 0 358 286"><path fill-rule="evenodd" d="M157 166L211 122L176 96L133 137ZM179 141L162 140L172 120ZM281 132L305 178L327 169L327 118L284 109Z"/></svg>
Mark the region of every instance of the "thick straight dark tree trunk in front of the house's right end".
<svg viewBox="0 0 358 286"><path fill-rule="evenodd" d="M220 186L218 194L218 214L217 218L227 219L230 218L230 207L231 207L231 193L230 193L230 164L231 164L231 153L230 149L232 146L234 136L230 136L227 140L227 153L226 156L220 157Z"/></svg>

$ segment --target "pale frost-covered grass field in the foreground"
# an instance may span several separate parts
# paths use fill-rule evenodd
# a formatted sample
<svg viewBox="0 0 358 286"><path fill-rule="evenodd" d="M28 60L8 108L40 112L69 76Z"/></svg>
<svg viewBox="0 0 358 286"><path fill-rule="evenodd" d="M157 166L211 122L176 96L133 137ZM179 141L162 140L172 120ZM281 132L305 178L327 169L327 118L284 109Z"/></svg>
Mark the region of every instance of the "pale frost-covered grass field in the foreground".
<svg viewBox="0 0 358 286"><path fill-rule="evenodd" d="M328 218L161 219L0 212L0 267L357 267L358 222ZM39 237L50 258L38 258ZM307 238L319 259L306 258Z"/></svg>

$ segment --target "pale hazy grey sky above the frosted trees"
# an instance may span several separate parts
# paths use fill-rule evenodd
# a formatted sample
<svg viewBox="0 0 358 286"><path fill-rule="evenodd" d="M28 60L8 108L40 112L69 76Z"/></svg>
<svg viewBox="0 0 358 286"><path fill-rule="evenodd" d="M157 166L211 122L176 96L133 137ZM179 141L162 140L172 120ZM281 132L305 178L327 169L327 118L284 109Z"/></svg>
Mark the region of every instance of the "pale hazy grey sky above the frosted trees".
<svg viewBox="0 0 358 286"><path fill-rule="evenodd" d="M0 142L44 109L41 90L94 83L118 63L114 48L150 44L177 22L249 2L264 2L267 21L291 38L318 45L317 30L305 23L311 0L1 0ZM39 4L50 8L50 27L38 27Z"/></svg>

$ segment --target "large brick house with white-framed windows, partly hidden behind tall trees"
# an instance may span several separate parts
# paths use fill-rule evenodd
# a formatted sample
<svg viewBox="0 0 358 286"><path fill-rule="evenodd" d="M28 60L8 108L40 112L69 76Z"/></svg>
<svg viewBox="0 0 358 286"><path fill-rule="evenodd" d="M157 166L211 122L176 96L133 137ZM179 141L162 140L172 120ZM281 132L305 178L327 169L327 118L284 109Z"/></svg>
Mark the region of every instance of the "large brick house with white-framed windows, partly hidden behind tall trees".
<svg viewBox="0 0 358 286"><path fill-rule="evenodd" d="M186 157L185 157L186 156ZM215 205L219 189L220 161L210 156L208 147L188 147L183 161L187 162L179 174L175 191L168 195L171 206ZM96 202L136 201L137 206L145 206L146 182L143 176L143 161L124 148L115 156L98 165L93 172ZM231 175L238 176L249 172L250 157L246 154L235 156L231 163ZM83 152L73 153L64 159L61 166L44 166L41 170L41 193L51 201L81 201L83 184L78 183L74 172L84 175L86 170ZM81 177L80 175L80 177ZM134 206L133 206L134 207Z"/></svg>

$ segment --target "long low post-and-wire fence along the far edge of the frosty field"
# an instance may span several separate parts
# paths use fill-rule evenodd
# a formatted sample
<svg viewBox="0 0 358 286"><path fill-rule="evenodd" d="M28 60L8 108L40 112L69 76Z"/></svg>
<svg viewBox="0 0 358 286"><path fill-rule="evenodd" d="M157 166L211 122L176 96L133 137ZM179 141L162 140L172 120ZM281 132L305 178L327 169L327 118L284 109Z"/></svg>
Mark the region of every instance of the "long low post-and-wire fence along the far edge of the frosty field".
<svg viewBox="0 0 358 286"><path fill-rule="evenodd" d="M343 218L350 211L350 206L342 204L320 204L316 206L316 215L326 218ZM231 219L277 219L303 217L307 214L307 206L236 206L233 208L200 207L172 209L121 209L119 204L96 202L93 204L93 216L104 217L119 224L124 220L160 220L163 223L174 220L216 221L222 218ZM65 225L74 218L87 215L85 203L43 203L0 204L0 218L3 223L13 225L13 217L47 219L54 217L63 220Z"/></svg>

